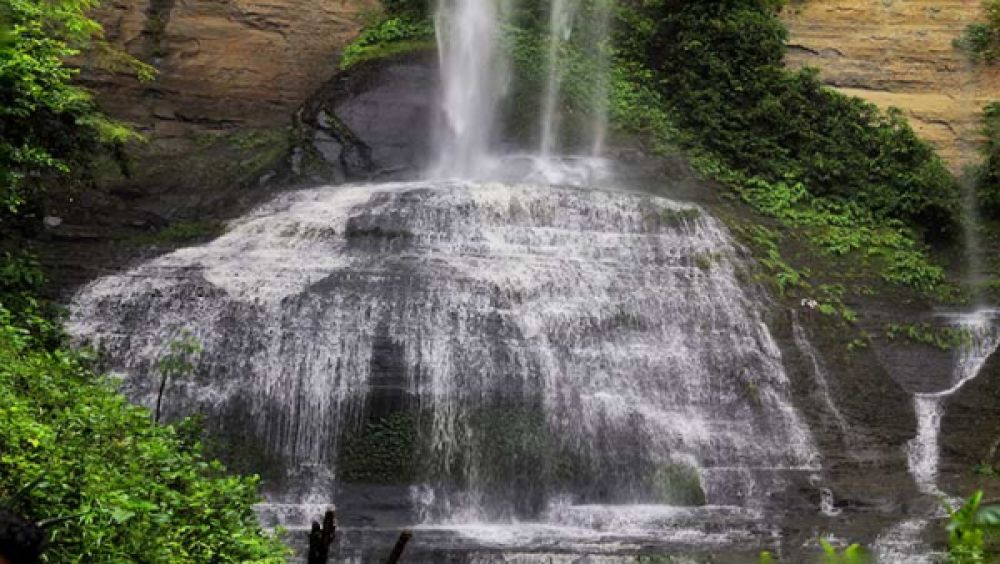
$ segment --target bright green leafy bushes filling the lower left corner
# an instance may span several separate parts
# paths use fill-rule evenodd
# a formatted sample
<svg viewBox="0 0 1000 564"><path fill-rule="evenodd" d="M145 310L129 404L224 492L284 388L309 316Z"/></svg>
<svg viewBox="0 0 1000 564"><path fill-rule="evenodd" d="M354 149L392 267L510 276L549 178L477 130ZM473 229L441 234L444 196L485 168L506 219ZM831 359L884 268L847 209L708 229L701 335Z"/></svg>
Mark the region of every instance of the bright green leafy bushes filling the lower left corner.
<svg viewBox="0 0 1000 564"><path fill-rule="evenodd" d="M11 321L0 309L0 498L40 480L16 509L72 516L51 531L48 561L284 561L256 523L255 478L226 477L86 356L40 348Z"/></svg>

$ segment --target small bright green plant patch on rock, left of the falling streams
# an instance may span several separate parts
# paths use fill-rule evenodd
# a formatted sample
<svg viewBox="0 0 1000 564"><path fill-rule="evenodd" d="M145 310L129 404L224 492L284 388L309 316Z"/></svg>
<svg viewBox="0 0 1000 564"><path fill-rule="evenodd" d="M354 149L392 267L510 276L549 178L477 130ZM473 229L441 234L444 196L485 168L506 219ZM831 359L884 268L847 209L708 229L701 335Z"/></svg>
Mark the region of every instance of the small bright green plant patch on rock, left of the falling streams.
<svg viewBox="0 0 1000 564"><path fill-rule="evenodd" d="M434 44L434 25L426 18L409 15L386 18L366 28L344 49L340 69L371 59L429 48Z"/></svg>

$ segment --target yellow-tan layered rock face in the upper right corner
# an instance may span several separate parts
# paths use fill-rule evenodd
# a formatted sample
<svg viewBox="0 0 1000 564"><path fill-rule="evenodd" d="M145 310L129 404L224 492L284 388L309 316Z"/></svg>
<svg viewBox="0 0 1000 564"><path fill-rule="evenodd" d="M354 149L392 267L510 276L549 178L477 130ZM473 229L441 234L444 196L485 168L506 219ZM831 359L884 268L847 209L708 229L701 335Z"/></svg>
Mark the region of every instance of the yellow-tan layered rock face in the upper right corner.
<svg viewBox="0 0 1000 564"><path fill-rule="evenodd" d="M812 66L846 94L895 106L958 170L976 162L980 114L1000 96L1000 67L953 46L981 21L978 0L792 2L788 64Z"/></svg>

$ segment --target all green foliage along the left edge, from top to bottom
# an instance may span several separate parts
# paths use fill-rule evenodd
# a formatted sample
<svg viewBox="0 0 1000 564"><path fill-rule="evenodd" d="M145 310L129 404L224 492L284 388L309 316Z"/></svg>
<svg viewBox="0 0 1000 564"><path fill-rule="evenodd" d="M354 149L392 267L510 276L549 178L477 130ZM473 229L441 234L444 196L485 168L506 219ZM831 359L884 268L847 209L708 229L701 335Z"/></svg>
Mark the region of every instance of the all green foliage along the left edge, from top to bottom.
<svg viewBox="0 0 1000 564"><path fill-rule="evenodd" d="M66 64L87 49L151 75L103 43L86 16L95 6L0 0L0 499L23 491L15 511L67 518L49 530L48 561L284 561L256 522L257 479L227 476L190 424L157 425L70 350L59 309L40 297L41 269L23 254L45 187L85 181L97 153L137 138ZM176 363L165 368L177 376Z"/></svg>

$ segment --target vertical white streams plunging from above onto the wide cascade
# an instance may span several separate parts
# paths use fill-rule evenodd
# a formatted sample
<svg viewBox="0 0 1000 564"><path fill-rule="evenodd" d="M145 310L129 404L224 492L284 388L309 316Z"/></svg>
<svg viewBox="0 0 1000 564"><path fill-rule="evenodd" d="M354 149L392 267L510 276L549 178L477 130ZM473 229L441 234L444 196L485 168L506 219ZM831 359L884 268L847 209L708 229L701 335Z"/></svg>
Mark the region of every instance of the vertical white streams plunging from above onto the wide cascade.
<svg viewBox="0 0 1000 564"><path fill-rule="evenodd" d="M438 0L435 11L442 119L435 137L435 164L430 178L496 179L507 177L507 163L493 152L500 102L508 91L510 53L501 47L505 14L513 0ZM524 177L553 179L553 162L563 126L564 79L570 59L590 69L586 108L589 125L581 134L588 156L603 153L608 129L608 96L612 3L609 0L551 0L545 79L539 123L537 159ZM571 44L574 35L585 48ZM571 55L570 53L575 53ZM577 69L579 72L579 69ZM579 94L583 96L582 94ZM593 163L590 163L593 166ZM555 174L556 179L562 177Z"/></svg>

